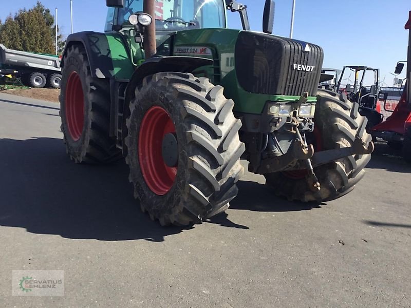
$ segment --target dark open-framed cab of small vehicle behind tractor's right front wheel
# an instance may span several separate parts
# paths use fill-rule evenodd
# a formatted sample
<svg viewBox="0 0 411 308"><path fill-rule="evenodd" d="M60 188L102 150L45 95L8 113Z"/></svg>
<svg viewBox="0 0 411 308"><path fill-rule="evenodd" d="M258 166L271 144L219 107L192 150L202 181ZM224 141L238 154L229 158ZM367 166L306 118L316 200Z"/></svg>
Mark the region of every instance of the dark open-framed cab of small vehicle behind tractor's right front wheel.
<svg viewBox="0 0 411 308"><path fill-rule="evenodd" d="M353 77L351 77L352 74ZM359 103L361 107L376 109L380 92L379 78L378 68L344 66L337 88L347 92L348 99ZM353 82L352 85L351 82Z"/></svg>

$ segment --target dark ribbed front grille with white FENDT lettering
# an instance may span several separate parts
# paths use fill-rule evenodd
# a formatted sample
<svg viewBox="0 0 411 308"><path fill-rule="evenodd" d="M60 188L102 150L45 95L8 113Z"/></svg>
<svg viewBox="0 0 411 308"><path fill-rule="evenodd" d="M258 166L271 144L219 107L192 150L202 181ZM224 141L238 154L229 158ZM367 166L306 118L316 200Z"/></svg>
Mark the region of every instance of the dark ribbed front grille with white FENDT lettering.
<svg viewBox="0 0 411 308"><path fill-rule="evenodd" d="M321 47L269 34L240 32L235 68L248 92L274 95L315 95L323 64ZM311 71L310 68L314 66ZM295 69L294 69L295 67ZM306 70L298 70L302 68Z"/></svg>

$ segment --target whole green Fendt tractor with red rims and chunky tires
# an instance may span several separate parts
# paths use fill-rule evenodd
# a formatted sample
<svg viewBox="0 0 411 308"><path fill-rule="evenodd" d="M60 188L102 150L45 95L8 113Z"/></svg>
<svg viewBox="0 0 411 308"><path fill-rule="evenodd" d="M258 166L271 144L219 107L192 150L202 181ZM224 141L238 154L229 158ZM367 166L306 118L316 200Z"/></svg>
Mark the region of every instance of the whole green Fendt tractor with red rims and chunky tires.
<svg viewBox="0 0 411 308"><path fill-rule="evenodd" d="M277 195L349 192L373 149L345 94L318 90L323 50L250 31L226 0L106 0L104 33L69 35L61 66L64 141L76 163L125 158L143 211L189 225L229 207L249 171ZM243 30L227 28L239 12ZM252 193L252 192L250 192Z"/></svg>

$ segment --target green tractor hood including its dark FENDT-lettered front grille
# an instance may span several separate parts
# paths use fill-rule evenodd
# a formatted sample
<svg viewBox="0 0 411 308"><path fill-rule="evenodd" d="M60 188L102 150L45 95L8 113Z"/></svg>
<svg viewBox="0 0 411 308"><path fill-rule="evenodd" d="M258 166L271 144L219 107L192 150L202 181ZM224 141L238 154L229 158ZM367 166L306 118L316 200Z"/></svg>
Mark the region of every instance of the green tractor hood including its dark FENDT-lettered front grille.
<svg viewBox="0 0 411 308"><path fill-rule="evenodd" d="M238 84L249 93L316 95L324 57L320 46L233 29L180 31L173 41L173 55L213 59L221 78L235 69Z"/></svg>

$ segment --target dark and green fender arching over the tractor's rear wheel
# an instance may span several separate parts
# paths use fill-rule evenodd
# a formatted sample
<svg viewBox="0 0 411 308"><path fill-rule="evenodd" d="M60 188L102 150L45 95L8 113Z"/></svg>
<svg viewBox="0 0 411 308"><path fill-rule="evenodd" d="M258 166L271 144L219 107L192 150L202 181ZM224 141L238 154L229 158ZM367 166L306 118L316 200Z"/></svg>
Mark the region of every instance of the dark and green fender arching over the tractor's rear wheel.
<svg viewBox="0 0 411 308"><path fill-rule="evenodd" d="M93 78L128 80L133 74L135 66L119 33L84 31L70 34L62 54L62 68L65 65L64 56L72 45L84 46Z"/></svg>

